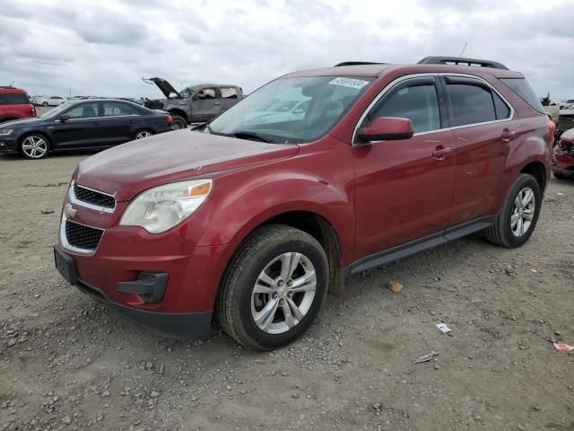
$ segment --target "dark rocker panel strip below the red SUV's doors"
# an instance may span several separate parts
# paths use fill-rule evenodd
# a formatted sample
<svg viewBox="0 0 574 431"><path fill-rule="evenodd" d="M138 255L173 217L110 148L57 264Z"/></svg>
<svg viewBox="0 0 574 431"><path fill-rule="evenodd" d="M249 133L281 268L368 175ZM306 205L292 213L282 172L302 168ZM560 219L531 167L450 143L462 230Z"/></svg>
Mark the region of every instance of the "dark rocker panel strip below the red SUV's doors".
<svg viewBox="0 0 574 431"><path fill-rule="evenodd" d="M458 224L439 233L432 233L418 240L397 245L386 251L372 254L354 262L349 268L349 274L357 274L370 268L377 268L395 260L404 259L421 251L429 250L438 245L452 242L463 236L483 231L494 223L496 216L485 216L477 218L472 222Z"/></svg>

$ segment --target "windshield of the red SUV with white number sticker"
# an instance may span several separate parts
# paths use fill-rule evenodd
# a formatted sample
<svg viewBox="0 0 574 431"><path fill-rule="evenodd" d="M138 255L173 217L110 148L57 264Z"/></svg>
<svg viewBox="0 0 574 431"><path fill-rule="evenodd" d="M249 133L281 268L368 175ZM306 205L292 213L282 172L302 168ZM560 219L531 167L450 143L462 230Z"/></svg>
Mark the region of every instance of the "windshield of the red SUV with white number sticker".
<svg viewBox="0 0 574 431"><path fill-rule="evenodd" d="M303 143L325 135L374 78L283 78L250 94L204 128L217 135L274 144Z"/></svg>

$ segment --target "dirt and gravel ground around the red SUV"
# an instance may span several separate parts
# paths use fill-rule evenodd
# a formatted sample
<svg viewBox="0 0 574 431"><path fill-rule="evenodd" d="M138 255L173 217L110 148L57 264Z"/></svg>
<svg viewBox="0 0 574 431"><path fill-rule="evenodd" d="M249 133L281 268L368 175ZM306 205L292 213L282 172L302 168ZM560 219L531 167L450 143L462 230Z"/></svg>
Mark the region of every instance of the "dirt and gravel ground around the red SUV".
<svg viewBox="0 0 574 431"><path fill-rule="evenodd" d="M86 156L0 157L0 430L574 429L574 353L549 341L574 345L574 182L552 180L524 247L475 235L350 277L261 354L217 328L161 338L66 285L52 245Z"/></svg>

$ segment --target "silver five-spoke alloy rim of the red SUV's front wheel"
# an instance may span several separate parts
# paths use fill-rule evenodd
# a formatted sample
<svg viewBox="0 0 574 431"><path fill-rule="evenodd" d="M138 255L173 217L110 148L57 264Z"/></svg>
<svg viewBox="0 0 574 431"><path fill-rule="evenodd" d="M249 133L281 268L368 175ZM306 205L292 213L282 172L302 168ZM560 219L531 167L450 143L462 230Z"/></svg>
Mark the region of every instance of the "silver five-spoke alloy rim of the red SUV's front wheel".
<svg viewBox="0 0 574 431"><path fill-rule="evenodd" d="M307 256L283 253L257 277L251 297L251 316L260 330L281 334L309 312L317 290L317 274Z"/></svg>

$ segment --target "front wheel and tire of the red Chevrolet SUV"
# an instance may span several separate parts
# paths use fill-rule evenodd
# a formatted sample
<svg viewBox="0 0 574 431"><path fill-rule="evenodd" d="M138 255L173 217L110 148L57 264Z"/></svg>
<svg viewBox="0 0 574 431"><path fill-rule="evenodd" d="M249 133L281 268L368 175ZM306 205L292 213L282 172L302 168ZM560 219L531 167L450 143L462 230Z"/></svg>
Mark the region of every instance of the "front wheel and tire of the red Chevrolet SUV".
<svg viewBox="0 0 574 431"><path fill-rule="evenodd" d="M290 270L293 262L298 263ZM223 330L254 350L291 343L315 320L328 274L326 253L309 233L283 224L258 228L239 246L223 276L216 301Z"/></svg>

